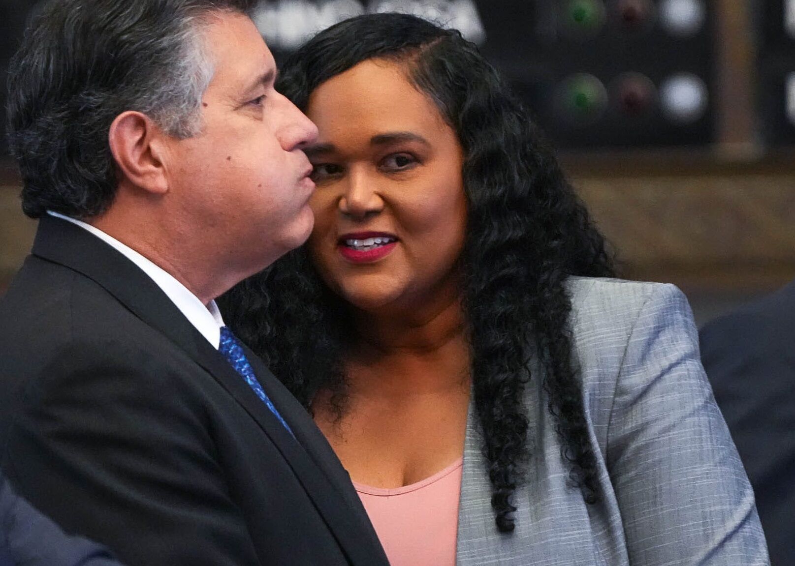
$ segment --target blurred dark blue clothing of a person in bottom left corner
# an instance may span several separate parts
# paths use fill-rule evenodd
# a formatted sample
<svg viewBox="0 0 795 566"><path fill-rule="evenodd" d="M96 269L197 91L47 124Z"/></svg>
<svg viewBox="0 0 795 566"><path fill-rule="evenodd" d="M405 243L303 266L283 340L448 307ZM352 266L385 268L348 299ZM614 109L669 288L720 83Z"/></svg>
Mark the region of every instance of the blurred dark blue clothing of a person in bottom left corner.
<svg viewBox="0 0 795 566"><path fill-rule="evenodd" d="M121 566L107 550L58 526L18 497L0 473L0 566Z"/></svg>

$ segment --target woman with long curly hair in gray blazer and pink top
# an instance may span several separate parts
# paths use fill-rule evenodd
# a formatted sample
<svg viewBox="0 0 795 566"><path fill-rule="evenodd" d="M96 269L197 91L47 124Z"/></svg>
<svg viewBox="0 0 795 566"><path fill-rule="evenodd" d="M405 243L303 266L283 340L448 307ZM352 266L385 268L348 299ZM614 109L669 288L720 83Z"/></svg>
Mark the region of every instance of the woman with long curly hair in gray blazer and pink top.
<svg viewBox="0 0 795 566"><path fill-rule="evenodd" d="M766 564L673 286L603 238L455 31L355 17L282 68L308 244L227 321L317 424L393 564Z"/></svg>

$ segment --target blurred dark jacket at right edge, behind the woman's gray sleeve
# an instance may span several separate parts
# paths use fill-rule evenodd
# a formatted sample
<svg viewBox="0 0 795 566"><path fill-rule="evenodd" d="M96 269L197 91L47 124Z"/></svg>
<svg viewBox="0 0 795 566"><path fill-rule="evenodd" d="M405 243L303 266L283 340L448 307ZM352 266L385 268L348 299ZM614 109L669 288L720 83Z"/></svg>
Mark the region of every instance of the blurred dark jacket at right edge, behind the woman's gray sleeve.
<svg viewBox="0 0 795 566"><path fill-rule="evenodd" d="M795 282L705 325L700 341L754 487L770 562L795 564Z"/></svg>

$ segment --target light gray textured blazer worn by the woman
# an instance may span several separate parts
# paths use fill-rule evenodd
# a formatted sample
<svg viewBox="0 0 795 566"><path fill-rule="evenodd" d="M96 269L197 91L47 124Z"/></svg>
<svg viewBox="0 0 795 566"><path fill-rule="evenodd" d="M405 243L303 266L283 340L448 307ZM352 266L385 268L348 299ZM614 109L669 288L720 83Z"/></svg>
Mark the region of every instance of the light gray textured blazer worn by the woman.
<svg viewBox="0 0 795 566"><path fill-rule="evenodd" d="M514 495L516 529L494 525L472 411L458 566L770 564L754 493L723 422L687 299L673 285L573 278L572 335L603 498L586 505L531 364L533 456Z"/></svg>

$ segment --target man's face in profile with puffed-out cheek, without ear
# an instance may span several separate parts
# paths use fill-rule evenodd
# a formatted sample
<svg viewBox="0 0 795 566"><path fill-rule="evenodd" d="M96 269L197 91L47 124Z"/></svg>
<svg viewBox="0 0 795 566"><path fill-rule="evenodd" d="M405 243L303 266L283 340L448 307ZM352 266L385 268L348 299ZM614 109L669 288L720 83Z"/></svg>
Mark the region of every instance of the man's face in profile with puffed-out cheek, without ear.
<svg viewBox="0 0 795 566"><path fill-rule="evenodd" d="M250 275L312 232L314 183L304 144L317 129L273 90L276 64L249 18L222 13L204 28L215 74L196 137L169 140L169 210L202 242L207 268Z"/></svg>

